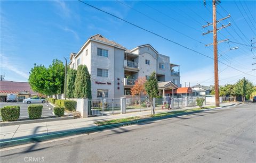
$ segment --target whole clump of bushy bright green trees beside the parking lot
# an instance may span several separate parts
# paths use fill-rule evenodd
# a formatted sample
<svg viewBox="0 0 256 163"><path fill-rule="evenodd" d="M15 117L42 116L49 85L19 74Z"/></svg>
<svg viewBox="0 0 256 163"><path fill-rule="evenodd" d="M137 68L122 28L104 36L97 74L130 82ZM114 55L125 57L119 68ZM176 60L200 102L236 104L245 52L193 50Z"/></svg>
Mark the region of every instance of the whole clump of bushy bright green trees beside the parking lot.
<svg viewBox="0 0 256 163"><path fill-rule="evenodd" d="M28 81L35 92L42 93L43 95L63 93L65 67L58 59L53 59L49 68L34 64L34 68L31 68L29 74Z"/></svg>

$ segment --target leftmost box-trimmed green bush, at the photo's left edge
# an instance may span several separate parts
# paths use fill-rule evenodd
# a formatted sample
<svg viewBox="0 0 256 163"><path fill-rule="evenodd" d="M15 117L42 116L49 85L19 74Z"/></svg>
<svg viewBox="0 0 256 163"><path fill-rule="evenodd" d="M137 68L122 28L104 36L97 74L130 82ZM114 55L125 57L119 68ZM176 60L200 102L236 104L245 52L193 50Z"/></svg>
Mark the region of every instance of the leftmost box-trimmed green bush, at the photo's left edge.
<svg viewBox="0 0 256 163"><path fill-rule="evenodd" d="M19 106L5 106L0 109L3 121L16 121L20 117Z"/></svg>

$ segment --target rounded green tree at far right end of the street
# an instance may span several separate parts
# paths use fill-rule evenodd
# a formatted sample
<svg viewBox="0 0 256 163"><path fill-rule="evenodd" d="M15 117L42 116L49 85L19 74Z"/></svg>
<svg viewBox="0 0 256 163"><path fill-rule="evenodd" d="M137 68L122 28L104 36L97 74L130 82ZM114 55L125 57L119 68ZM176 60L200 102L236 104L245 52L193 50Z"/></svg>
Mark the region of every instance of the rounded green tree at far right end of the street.
<svg viewBox="0 0 256 163"><path fill-rule="evenodd" d="M243 78L236 82L234 86L234 95L242 96L243 101L250 98L254 90L253 83Z"/></svg>

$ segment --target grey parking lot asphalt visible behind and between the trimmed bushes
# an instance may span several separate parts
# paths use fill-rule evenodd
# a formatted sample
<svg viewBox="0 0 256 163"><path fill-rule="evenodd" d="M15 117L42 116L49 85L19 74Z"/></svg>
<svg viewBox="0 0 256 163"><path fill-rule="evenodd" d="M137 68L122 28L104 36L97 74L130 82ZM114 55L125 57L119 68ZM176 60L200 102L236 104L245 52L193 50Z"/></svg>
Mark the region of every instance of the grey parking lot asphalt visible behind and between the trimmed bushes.
<svg viewBox="0 0 256 163"><path fill-rule="evenodd" d="M46 106L45 104L42 103L37 103L40 105L43 105L43 111L42 111L42 117L52 117L52 110L49 110L49 107ZM10 105L15 105L15 106L20 106L20 119L26 119L28 118L28 106L31 104L24 104L22 102L0 102L0 108L4 106L10 106ZM51 107L51 106L50 106ZM1 119L1 117L0 117Z"/></svg>

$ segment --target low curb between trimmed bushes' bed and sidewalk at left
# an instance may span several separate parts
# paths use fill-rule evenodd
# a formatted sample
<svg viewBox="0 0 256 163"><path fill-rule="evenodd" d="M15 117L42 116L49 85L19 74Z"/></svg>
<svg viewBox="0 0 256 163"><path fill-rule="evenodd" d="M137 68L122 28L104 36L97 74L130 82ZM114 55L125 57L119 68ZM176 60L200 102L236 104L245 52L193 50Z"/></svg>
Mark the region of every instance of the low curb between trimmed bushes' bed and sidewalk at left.
<svg viewBox="0 0 256 163"><path fill-rule="evenodd" d="M12 126L12 125L21 125L21 124L30 124L30 123L62 121L62 120L68 120L68 119L74 119L74 116L55 117L55 118L44 118L44 119L33 119L33 120L13 121L13 122L1 122L1 123L0 123L0 127Z"/></svg>

